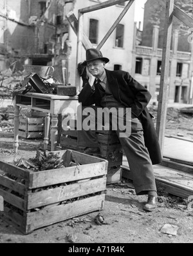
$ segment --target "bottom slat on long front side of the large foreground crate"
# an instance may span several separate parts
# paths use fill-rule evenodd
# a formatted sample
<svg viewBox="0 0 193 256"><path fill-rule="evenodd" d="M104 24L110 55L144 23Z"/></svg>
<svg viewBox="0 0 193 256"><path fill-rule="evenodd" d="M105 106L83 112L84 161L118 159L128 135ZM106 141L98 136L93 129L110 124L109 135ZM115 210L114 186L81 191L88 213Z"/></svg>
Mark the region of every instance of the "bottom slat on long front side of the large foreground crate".
<svg viewBox="0 0 193 256"><path fill-rule="evenodd" d="M95 212L104 208L105 195L96 195L86 199L71 202L69 204L61 204L53 206L39 212L28 213L28 233L60 221L65 221L73 217L78 217L86 213Z"/></svg>

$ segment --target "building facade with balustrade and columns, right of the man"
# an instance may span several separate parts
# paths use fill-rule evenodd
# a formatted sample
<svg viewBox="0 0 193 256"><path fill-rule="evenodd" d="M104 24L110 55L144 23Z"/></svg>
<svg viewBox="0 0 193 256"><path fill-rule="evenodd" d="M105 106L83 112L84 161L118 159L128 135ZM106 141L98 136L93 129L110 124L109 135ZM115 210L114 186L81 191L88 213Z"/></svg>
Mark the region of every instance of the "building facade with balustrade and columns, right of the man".
<svg viewBox="0 0 193 256"><path fill-rule="evenodd" d="M152 95L152 101L157 102L160 92L161 59L163 44L163 22L150 25L150 10L154 10L158 2L148 0L145 4L144 28L140 44L133 47L133 77L145 86ZM161 12L161 17L163 12ZM176 29L176 19L172 30L170 64L169 64L169 103L192 104L193 87L193 44L187 37L181 38ZM137 29L135 26L134 37ZM136 39L134 38L136 42ZM184 51L187 50L187 51Z"/></svg>

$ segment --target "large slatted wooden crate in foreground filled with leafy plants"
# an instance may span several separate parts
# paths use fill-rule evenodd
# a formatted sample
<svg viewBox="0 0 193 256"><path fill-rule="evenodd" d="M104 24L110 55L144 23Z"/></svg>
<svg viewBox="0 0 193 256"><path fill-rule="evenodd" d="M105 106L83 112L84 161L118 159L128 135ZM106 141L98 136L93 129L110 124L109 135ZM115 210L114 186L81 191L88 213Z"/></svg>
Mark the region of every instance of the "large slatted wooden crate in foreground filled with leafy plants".
<svg viewBox="0 0 193 256"><path fill-rule="evenodd" d="M0 217L25 234L104 208L108 162L73 150L54 153L67 167L32 172L0 161Z"/></svg>

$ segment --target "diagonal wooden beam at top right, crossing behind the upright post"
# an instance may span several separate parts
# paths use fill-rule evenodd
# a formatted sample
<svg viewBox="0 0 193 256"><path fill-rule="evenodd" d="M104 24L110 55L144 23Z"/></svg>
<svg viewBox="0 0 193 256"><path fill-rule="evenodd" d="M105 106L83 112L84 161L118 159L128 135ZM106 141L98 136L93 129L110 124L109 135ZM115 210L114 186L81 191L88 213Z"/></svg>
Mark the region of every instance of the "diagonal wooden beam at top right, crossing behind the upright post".
<svg viewBox="0 0 193 256"><path fill-rule="evenodd" d="M165 8L165 0L160 0L159 1L160 5ZM190 28L193 28L193 19L190 17L190 15L186 14L178 8L178 6L174 5L174 16L179 19L179 21L182 21L185 25L189 26Z"/></svg>

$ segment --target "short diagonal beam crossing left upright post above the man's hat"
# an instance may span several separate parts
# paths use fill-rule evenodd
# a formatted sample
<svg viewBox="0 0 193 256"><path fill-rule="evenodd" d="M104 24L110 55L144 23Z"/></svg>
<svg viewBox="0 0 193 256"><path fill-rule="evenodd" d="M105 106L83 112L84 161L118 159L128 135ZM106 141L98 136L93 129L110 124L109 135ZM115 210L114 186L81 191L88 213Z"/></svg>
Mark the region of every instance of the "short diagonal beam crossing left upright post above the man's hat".
<svg viewBox="0 0 193 256"><path fill-rule="evenodd" d="M69 25L71 26L71 28L73 29L73 31L75 32L75 34L78 34L78 20L75 16L75 14L73 14L73 12L69 12L66 15L66 19L69 22ZM89 48L93 48L93 44L91 43L91 41L89 41L87 35L83 32L82 35L82 44L84 46L84 49L89 49Z"/></svg>

